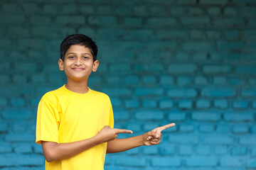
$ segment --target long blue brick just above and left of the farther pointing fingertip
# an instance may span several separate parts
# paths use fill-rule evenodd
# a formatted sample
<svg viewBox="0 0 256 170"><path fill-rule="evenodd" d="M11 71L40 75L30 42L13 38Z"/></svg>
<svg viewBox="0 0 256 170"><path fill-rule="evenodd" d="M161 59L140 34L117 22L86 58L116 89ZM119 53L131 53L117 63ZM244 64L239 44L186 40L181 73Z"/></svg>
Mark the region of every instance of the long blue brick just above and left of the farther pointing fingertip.
<svg viewBox="0 0 256 170"><path fill-rule="evenodd" d="M135 118L137 120L163 120L164 113L159 110L143 110L143 111L136 111Z"/></svg>

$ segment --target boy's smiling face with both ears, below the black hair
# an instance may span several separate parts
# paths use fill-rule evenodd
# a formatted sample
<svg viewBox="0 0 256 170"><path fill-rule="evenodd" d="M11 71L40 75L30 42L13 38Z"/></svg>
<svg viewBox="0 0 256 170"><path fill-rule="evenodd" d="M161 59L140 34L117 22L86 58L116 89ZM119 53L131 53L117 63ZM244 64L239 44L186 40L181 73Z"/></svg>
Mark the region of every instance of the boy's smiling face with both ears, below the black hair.
<svg viewBox="0 0 256 170"><path fill-rule="evenodd" d="M96 72L99 61L93 62L89 48L82 45L71 45L65 53L65 60L58 62L60 70L64 70L68 80L87 80L91 72Z"/></svg>

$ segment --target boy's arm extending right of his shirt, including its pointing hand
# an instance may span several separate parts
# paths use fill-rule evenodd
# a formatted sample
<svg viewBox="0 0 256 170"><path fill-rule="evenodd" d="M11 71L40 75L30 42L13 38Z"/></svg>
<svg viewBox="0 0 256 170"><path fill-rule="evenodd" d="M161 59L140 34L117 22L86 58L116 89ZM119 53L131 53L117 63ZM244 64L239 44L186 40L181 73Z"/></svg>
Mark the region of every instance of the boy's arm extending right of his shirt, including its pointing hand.
<svg viewBox="0 0 256 170"><path fill-rule="evenodd" d="M161 142L161 131L171 128L174 125L175 123L171 123L155 128L154 130L144 133L144 135L109 141L107 142L107 154L123 152L142 145L158 145Z"/></svg>

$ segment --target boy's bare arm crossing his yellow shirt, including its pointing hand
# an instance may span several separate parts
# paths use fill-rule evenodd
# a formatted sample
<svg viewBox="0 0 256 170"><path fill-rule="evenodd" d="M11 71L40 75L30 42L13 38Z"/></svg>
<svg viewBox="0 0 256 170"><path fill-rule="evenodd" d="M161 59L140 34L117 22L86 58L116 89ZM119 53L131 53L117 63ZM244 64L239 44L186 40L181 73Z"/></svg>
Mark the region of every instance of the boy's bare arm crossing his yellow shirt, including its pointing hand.
<svg viewBox="0 0 256 170"><path fill-rule="evenodd" d="M132 133L131 130L112 129L105 126L100 132L87 140L80 140L70 143L56 143L42 141L43 154L47 162L53 162L60 159L67 159L79 154L86 149L100 145L103 142L109 142L117 137L118 133Z"/></svg>

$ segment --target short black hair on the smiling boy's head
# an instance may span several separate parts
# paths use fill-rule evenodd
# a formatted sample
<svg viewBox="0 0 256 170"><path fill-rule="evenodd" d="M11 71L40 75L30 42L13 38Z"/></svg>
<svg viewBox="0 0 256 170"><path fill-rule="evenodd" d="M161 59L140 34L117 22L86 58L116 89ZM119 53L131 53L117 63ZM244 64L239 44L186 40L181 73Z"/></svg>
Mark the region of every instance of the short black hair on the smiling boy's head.
<svg viewBox="0 0 256 170"><path fill-rule="evenodd" d="M60 44L60 59L65 59L65 53L68 51L71 45L83 45L90 49L90 52L92 53L93 62L97 60L97 45L95 42L83 34L73 34L68 35L67 38L63 40Z"/></svg>

